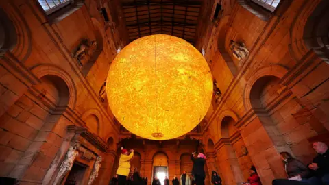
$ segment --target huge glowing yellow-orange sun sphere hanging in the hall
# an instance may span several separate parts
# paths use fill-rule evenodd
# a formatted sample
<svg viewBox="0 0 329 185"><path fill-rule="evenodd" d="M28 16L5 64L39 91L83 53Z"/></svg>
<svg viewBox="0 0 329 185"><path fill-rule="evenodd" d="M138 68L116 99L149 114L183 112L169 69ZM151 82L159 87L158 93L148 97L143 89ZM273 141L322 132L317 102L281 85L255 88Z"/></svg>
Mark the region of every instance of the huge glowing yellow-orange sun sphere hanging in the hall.
<svg viewBox="0 0 329 185"><path fill-rule="evenodd" d="M206 115L212 76L202 54L181 38L138 38L117 55L106 83L110 109L127 130L151 140L190 132Z"/></svg>

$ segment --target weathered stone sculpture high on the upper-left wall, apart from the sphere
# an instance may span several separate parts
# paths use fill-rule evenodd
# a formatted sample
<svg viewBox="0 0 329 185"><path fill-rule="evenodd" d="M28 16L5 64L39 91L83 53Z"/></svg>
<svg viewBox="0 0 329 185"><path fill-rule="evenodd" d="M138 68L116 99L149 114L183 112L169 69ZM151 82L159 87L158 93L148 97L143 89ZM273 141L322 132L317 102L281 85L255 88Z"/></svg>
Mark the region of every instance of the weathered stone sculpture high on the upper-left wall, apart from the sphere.
<svg viewBox="0 0 329 185"><path fill-rule="evenodd" d="M82 40L80 45L72 53L80 67L84 66L93 56L97 49L96 41Z"/></svg>

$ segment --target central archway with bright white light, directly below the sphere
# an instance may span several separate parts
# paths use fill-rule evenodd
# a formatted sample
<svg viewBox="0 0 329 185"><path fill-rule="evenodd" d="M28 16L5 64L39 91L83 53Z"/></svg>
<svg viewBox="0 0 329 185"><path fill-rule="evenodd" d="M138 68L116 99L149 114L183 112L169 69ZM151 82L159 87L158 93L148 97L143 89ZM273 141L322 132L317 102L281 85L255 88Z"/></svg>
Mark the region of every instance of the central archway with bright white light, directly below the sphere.
<svg viewBox="0 0 329 185"><path fill-rule="evenodd" d="M169 177L168 171L168 156L162 152L154 154L152 181L154 177L158 177L161 185L164 185L164 178Z"/></svg>

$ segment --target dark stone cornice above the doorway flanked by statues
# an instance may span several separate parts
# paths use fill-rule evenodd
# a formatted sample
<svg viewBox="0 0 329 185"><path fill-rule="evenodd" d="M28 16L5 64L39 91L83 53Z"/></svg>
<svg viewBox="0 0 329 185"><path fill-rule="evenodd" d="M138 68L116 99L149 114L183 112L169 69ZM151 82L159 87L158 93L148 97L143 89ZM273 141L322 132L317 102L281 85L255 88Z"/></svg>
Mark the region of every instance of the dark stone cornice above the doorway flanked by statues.
<svg viewBox="0 0 329 185"><path fill-rule="evenodd" d="M67 126L67 132L73 132L75 134L79 134L80 136L82 136L82 138L88 140L89 143L97 147L97 149L100 149L103 152L108 151L108 145L95 134L88 132L86 127L69 125Z"/></svg>

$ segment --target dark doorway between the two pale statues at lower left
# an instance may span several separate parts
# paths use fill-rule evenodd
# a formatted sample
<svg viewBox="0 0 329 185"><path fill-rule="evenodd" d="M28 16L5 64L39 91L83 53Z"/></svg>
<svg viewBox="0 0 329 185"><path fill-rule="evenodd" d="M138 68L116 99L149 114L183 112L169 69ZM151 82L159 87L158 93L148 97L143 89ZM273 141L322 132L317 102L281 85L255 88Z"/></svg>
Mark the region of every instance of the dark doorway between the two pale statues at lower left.
<svg viewBox="0 0 329 185"><path fill-rule="evenodd" d="M69 176L65 181L65 185L82 184L85 172L86 166L80 163L74 163Z"/></svg>

